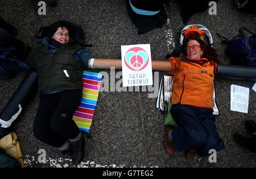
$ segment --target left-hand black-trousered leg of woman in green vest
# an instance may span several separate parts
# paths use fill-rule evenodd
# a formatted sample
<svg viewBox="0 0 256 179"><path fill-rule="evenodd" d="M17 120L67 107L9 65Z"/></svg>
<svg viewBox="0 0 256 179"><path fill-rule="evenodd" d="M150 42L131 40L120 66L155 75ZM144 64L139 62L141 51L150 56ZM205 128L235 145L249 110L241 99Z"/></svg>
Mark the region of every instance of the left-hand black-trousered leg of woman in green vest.
<svg viewBox="0 0 256 179"><path fill-rule="evenodd" d="M40 97L38 110L36 111L33 133L35 138L52 145L61 147L67 139L57 135L50 127L50 119L55 111L59 99L55 94L46 94Z"/></svg>

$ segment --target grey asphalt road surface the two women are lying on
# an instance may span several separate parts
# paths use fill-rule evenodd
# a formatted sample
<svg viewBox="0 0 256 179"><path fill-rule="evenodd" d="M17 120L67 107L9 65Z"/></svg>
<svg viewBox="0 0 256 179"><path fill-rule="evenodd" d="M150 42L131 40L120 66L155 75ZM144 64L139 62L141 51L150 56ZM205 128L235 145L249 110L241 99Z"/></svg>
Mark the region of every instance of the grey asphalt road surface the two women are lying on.
<svg viewBox="0 0 256 179"><path fill-rule="evenodd" d="M47 6L46 15L38 15L32 9L30 1L0 1L0 16L18 29L16 38L35 46L36 32L60 19L80 24L84 28L85 43L93 44L86 48L98 59L121 59L121 45L150 44L152 59L165 60L165 56L174 48L177 32L184 26L180 18L180 7L172 1L166 8L168 24L143 35L129 19L126 4L123 0L101 1L59 1L57 7ZM209 15L208 11L194 14L188 24L203 24L213 35L214 47L218 51L222 64L229 64L230 59L224 55L225 45L216 36L216 32L231 39L237 35L242 26L256 32L256 14L244 13L236 9L233 1L218 1L217 15ZM35 66L35 51L28 55L26 62ZM106 72L109 69L92 70ZM115 72L115 74L117 71ZM154 74L154 73L153 73ZM163 72L155 72L156 75ZM19 83L26 76L18 73L8 81L0 80L0 110L5 107ZM105 78L108 76L105 76ZM155 80L158 88L159 78ZM120 79L115 79L117 82ZM164 115L155 109L156 98L149 98L152 92L142 91L142 114L147 144L148 157L144 147L141 109L138 91L102 91L98 98L96 113L92 124L92 139L86 139L86 151L79 167L255 167L256 154L240 147L234 140L235 131L249 135L244 122L247 119L256 121L256 94L251 90L255 81L228 80L216 78L217 106L220 115L216 116L217 130L224 140L226 148L217 152L217 163L209 163L208 157L187 161L184 152L168 155L163 147ZM249 112L230 111L230 85L250 88ZM114 83L110 84L112 88ZM151 94L152 95L152 94ZM32 135L32 124L38 107L36 95L23 114L13 124L18 135L26 167L77 167L73 166L70 157L62 155L58 149L37 140ZM39 149L46 151L47 162L39 163Z"/></svg>

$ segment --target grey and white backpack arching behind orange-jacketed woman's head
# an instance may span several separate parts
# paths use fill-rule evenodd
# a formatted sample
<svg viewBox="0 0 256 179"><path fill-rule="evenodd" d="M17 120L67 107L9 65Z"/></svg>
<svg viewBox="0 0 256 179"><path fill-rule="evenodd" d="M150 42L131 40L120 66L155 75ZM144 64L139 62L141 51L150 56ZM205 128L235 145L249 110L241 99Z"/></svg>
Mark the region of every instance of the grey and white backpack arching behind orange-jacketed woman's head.
<svg viewBox="0 0 256 179"><path fill-rule="evenodd" d="M187 26L181 28L181 30L178 32L179 41L178 41L174 51L172 51L172 54L167 55L166 59L170 58L171 56L175 56L175 57L180 56L180 53L183 50L183 40L184 40L185 31L188 30L189 28L192 28L192 27L196 27L198 30L203 30L205 32L205 42L206 42L206 44L209 45L210 47L213 47L212 35L210 34L210 31L206 27L204 27L201 24L187 25Z"/></svg>

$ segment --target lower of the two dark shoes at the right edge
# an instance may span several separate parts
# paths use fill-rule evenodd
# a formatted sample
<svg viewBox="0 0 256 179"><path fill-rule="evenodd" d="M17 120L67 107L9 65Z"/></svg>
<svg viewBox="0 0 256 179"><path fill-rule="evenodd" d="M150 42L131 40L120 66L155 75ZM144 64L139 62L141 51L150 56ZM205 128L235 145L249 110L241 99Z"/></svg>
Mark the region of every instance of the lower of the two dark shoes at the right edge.
<svg viewBox="0 0 256 179"><path fill-rule="evenodd" d="M256 137L247 138L239 133L234 134L234 140L242 147L245 147L251 152L256 153Z"/></svg>

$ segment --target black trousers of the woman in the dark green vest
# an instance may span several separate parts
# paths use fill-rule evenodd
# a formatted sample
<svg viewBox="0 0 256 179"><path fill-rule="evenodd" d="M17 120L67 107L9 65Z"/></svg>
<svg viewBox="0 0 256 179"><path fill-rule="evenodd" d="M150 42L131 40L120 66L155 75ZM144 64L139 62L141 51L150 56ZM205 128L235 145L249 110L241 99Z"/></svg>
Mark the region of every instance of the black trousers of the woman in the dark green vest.
<svg viewBox="0 0 256 179"><path fill-rule="evenodd" d="M80 131L72 116L81 100L81 90L42 94L34 122L34 136L53 147L61 147L66 140L76 138Z"/></svg>

